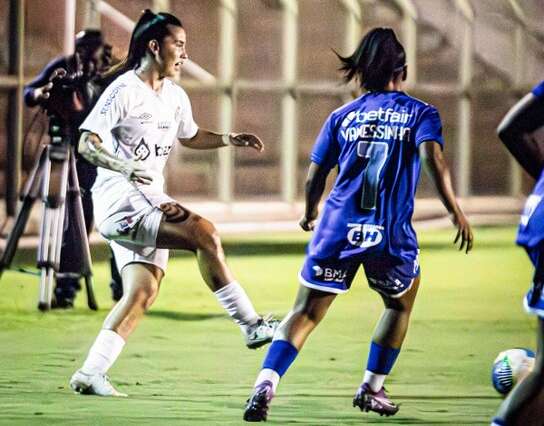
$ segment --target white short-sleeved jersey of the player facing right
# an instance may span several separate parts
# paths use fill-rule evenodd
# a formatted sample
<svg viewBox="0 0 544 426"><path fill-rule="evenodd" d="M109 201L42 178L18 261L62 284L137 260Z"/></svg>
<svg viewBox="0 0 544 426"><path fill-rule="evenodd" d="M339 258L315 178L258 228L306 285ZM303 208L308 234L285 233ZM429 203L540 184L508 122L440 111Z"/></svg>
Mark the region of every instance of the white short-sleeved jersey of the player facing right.
<svg viewBox="0 0 544 426"><path fill-rule="evenodd" d="M80 130L97 134L104 148L122 160L137 157L153 178L151 185L135 184L118 172L98 167L92 192L99 224L135 190L150 200L162 194L163 169L174 142L192 138L198 126L180 86L165 79L156 92L131 70L107 87Z"/></svg>

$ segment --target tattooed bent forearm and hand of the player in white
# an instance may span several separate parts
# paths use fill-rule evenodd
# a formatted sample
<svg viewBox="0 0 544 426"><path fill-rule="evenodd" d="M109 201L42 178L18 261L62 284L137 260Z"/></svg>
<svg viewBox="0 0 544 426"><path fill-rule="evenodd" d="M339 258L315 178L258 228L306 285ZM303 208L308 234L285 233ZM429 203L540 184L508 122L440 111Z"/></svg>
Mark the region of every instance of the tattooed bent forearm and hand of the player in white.
<svg viewBox="0 0 544 426"><path fill-rule="evenodd" d="M150 184L153 180L136 161L122 160L111 154L95 133L84 131L81 134L78 151L89 163L119 172L131 182Z"/></svg>

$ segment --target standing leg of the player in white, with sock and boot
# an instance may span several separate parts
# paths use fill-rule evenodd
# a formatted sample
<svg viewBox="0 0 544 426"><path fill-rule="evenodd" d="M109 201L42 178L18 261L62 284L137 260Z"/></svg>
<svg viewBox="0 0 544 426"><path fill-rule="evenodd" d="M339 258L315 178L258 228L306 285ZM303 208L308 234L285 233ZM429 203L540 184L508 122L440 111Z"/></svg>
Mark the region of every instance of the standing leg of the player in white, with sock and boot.
<svg viewBox="0 0 544 426"><path fill-rule="evenodd" d="M145 311L157 297L162 270L149 263L129 263L122 270L125 294L113 307L70 387L82 394L126 396L113 388L106 376Z"/></svg>

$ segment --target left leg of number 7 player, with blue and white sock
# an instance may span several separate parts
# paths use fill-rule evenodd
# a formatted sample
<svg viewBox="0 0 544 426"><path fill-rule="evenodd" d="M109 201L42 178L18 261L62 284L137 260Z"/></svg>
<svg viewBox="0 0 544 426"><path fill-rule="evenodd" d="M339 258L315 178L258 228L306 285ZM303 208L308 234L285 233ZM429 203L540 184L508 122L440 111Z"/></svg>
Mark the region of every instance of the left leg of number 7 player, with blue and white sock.
<svg viewBox="0 0 544 426"><path fill-rule="evenodd" d="M293 309L279 325L268 348L262 369L249 398L244 420L266 420L269 403L276 393L280 378L293 363L304 342L323 319L336 294L299 287Z"/></svg>

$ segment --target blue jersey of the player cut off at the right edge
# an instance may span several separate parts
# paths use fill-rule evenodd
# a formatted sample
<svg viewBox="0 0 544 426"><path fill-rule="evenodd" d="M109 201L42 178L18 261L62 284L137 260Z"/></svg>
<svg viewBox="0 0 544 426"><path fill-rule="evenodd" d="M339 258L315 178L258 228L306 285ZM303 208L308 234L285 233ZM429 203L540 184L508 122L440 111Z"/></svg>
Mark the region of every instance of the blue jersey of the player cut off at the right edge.
<svg viewBox="0 0 544 426"><path fill-rule="evenodd" d="M537 98L544 98L544 81L535 86L532 93ZM544 125L542 117L541 125ZM525 202L518 229L517 243L533 248L544 240L544 170L540 173L533 192Z"/></svg>

